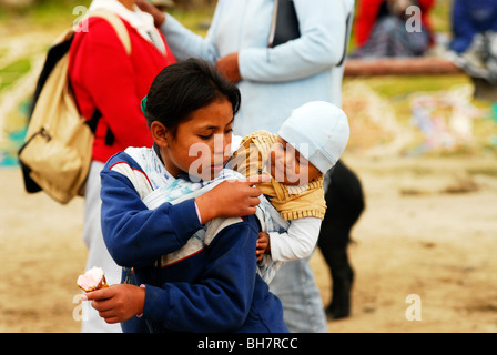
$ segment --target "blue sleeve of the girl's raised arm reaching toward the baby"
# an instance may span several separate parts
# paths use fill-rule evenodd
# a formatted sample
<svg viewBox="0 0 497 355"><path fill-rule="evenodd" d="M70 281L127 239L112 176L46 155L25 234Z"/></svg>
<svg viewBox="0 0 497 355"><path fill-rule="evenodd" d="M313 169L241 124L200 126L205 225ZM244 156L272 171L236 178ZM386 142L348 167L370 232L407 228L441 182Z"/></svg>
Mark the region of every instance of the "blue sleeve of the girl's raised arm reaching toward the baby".
<svg viewBox="0 0 497 355"><path fill-rule="evenodd" d="M181 248L202 227L194 200L149 210L130 180L109 169L101 173L101 224L105 245L118 265L146 266Z"/></svg>

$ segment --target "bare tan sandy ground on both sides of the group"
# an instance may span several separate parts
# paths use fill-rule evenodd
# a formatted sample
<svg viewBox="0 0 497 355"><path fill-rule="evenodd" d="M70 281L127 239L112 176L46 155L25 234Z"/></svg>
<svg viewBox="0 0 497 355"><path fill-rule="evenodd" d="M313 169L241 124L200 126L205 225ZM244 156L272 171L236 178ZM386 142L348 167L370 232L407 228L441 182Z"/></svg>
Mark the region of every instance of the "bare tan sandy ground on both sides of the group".
<svg viewBox="0 0 497 355"><path fill-rule="evenodd" d="M329 332L496 332L495 158L349 154L345 162L367 207L349 247L352 315L329 322ZM61 206L27 195L16 168L0 170L0 332L79 332L82 200ZM327 304L318 251L312 265Z"/></svg>

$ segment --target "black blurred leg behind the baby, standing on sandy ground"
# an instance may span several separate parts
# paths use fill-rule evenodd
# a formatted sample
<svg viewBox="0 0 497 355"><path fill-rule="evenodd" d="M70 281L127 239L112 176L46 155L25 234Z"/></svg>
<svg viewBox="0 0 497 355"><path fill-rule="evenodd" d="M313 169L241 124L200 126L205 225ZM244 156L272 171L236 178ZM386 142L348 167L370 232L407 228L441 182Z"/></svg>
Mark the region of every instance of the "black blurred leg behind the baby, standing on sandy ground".
<svg viewBox="0 0 497 355"><path fill-rule="evenodd" d="M326 189L326 214L317 245L332 274L332 301L326 313L332 318L349 315L354 271L347 255L351 230L364 211L361 181L342 161L326 173L331 182ZM326 179L327 181L328 179Z"/></svg>

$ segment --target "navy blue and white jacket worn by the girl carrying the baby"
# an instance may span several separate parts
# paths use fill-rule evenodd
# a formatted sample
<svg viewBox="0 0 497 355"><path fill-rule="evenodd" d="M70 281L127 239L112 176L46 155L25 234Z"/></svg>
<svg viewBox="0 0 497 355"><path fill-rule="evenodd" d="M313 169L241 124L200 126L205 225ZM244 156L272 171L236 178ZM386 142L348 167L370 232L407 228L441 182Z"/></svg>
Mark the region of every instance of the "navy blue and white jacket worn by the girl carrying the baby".
<svg viewBox="0 0 497 355"><path fill-rule="evenodd" d="M152 332L287 332L280 301L256 273L255 216L203 226L193 199L149 209L146 196L164 185L187 189L152 149L114 155L101 176L105 244L145 284L143 320Z"/></svg>

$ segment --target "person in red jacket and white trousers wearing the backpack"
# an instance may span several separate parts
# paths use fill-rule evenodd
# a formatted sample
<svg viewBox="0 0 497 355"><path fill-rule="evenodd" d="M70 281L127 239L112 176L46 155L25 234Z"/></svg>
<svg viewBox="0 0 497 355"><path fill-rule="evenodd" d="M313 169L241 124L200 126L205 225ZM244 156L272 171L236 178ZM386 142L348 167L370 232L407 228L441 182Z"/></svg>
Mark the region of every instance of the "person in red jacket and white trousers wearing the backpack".
<svg viewBox="0 0 497 355"><path fill-rule="evenodd" d="M153 143L140 102L155 75L176 60L153 19L134 6L134 0L93 0L92 10L108 10L122 20L131 41L129 54L114 28L103 18L90 17L77 31L70 48L69 78L84 118L100 115L93 142L90 173L84 191L83 240L88 246L87 268L105 270L110 283L121 282L103 243L100 227L100 171L115 153ZM83 308L82 332L120 332Z"/></svg>

